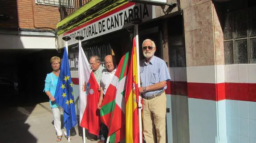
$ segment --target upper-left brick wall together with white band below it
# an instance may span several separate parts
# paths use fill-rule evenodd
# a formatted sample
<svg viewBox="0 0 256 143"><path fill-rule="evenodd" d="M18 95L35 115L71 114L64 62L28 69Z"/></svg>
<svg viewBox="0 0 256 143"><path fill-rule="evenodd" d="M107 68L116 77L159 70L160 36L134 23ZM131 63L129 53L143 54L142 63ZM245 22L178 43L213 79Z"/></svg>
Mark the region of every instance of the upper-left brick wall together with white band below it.
<svg viewBox="0 0 256 143"><path fill-rule="evenodd" d="M54 31L61 20L57 5L40 0L0 3L0 49L56 49Z"/></svg>

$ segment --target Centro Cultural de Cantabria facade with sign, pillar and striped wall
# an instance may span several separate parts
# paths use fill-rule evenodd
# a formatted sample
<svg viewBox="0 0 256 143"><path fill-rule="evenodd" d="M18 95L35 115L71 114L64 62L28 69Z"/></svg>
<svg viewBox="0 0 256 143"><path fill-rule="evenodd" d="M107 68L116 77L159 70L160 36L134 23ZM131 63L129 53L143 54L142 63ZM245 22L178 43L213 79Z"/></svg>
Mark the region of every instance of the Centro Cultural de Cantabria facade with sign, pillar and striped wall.
<svg viewBox="0 0 256 143"><path fill-rule="evenodd" d="M142 19L140 45L144 39L154 40L155 55L167 62L171 74L166 90L167 142L256 143L256 2L167 3L172 5L92 0L58 23L58 44L64 47L61 38L71 37L74 87L78 89L74 38L85 37L87 58L121 58L131 47L130 20L137 16Z"/></svg>

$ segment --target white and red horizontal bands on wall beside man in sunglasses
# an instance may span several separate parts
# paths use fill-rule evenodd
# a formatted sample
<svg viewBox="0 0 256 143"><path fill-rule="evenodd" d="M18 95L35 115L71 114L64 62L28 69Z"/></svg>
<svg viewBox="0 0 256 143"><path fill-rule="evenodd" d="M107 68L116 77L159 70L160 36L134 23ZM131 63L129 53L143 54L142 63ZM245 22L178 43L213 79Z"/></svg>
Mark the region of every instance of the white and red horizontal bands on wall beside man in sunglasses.
<svg viewBox="0 0 256 143"><path fill-rule="evenodd" d="M256 64L170 68L170 73L167 94L256 102Z"/></svg>

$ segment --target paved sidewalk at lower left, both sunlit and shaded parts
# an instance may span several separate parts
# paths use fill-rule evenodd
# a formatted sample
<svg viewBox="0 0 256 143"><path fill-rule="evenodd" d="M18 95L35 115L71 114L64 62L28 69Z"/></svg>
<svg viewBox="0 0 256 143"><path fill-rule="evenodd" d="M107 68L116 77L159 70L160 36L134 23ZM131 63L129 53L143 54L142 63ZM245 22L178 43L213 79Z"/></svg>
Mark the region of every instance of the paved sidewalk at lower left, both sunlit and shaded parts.
<svg viewBox="0 0 256 143"><path fill-rule="evenodd" d="M26 107L0 108L0 143L56 143L53 114L49 102ZM80 129L81 130L81 129ZM64 134L60 143L83 143L75 127L71 141ZM86 138L86 143L97 143Z"/></svg>

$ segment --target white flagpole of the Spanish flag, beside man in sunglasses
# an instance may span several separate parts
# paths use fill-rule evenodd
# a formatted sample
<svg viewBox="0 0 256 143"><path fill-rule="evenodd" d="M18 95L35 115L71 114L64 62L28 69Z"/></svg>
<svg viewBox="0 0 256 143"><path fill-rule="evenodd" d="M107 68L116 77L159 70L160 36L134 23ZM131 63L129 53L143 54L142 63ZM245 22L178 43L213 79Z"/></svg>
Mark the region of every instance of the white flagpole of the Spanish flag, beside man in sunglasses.
<svg viewBox="0 0 256 143"><path fill-rule="evenodd" d="M131 20L134 24L134 34L135 34L135 43L136 43L136 58L137 58L137 75L138 75L138 87L140 87L140 73L139 73L139 43L138 43L138 24L142 22L140 18L134 18ZM141 96L138 96L138 124L139 124L139 143L142 143L142 104L141 104Z"/></svg>

